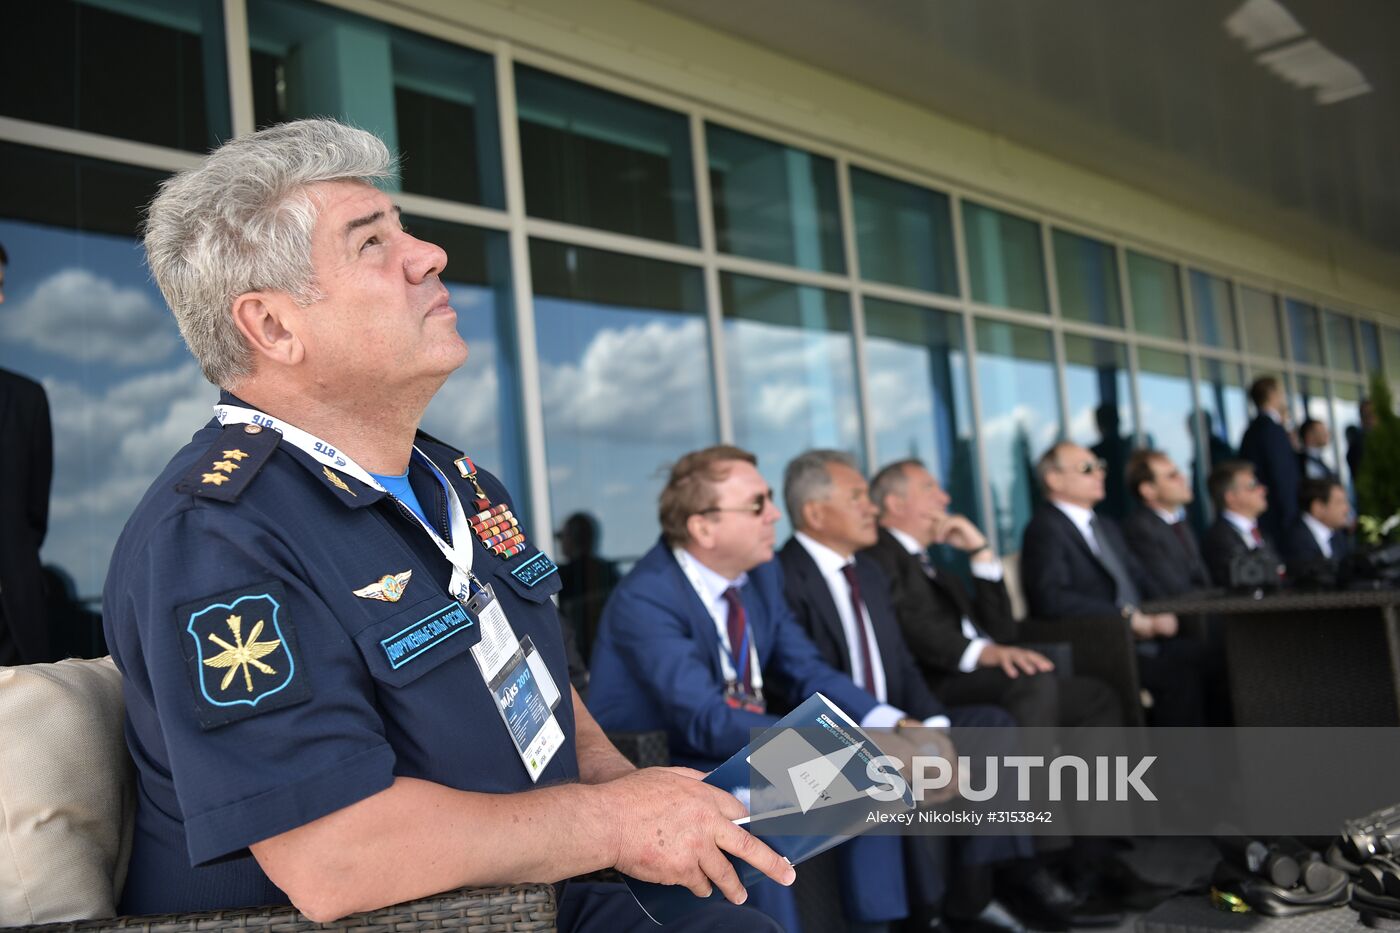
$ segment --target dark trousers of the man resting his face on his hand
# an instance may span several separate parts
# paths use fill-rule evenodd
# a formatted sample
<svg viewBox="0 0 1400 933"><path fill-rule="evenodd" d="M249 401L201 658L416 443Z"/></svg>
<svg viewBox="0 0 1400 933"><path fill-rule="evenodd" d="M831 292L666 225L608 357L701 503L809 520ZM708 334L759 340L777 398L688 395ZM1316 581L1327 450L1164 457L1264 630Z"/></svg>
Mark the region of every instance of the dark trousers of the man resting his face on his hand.
<svg viewBox="0 0 1400 933"><path fill-rule="evenodd" d="M1000 667L983 667L945 678L935 691L949 706L991 703L1018 726L1121 726L1123 713L1113 689L1088 677L1022 674L1007 677Z"/></svg>

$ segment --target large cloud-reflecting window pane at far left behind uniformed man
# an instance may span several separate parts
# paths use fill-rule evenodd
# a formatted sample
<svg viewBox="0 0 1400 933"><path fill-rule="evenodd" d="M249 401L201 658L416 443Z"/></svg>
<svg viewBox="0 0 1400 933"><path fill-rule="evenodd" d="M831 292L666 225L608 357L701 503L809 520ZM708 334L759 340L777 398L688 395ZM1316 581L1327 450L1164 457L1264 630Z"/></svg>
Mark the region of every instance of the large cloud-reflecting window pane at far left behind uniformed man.
<svg viewBox="0 0 1400 933"><path fill-rule="evenodd" d="M10 256L0 367L49 395L53 490L42 558L94 597L126 517L213 417L218 392L141 262L140 212L164 175L7 144L0 160L10 167L0 172L0 244Z"/></svg>

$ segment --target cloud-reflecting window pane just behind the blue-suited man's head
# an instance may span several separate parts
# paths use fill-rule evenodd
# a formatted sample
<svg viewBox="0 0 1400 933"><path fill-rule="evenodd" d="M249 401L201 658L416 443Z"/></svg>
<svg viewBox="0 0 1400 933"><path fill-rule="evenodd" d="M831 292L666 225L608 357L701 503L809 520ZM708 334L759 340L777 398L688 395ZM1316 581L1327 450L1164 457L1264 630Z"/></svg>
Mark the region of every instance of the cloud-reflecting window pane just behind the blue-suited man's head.
<svg viewBox="0 0 1400 933"><path fill-rule="evenodd" d="M699 269L531 241L550 514L588 513L598 555L655 544L679 454L718 440Z"/></svg>

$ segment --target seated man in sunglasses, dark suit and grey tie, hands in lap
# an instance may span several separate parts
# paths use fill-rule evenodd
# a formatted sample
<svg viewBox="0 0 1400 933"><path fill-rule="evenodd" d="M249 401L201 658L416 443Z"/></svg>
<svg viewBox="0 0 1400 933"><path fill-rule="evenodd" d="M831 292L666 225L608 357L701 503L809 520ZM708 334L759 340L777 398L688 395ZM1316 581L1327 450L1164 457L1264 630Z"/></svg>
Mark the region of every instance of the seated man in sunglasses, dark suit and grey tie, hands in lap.
<svg viewBox="0 0 1400 933"><path fill-rule="evenodd" d="M1093 513L1103 500L1103 464L1084 447L1061 441L1036 464L1046 493L1021 549L1021 580L1030 615L1121 618L1137 637L1138 675L1152 693L1156 726L1204 721L1204 646L1176 637L1169 612L1138 607L1159 594L1112 518Z"/></svg>

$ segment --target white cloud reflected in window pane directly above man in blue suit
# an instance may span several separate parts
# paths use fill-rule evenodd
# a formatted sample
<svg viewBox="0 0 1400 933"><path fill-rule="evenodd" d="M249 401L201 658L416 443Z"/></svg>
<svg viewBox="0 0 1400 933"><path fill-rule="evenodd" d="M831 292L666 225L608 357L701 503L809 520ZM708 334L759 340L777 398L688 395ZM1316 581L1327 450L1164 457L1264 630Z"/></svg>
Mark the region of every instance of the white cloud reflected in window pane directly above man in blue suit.
<svg viewBox="0 0 1400 933"><path fill-rule="evenodd" d="M540 360L550 433L690 443L697 406L708 408L704 321L645 321L603 328L577 361Z"/></svg>

